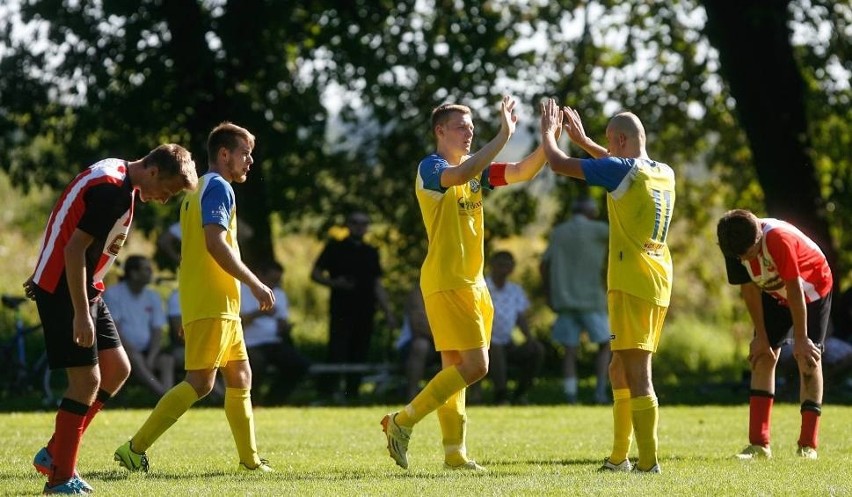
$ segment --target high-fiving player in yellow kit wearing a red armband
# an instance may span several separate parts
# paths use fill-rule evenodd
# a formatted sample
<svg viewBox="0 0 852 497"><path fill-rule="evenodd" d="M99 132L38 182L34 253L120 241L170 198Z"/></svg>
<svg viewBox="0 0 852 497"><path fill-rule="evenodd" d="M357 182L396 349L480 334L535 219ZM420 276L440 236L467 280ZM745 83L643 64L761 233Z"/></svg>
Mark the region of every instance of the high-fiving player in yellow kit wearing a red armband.
<svg viewBox="0 0 852 497"><path fill-rule="evenodd" d="M492 163L515 132L514 109L515 100L503 97L500 132L475 154L470 109L432 111L437 148L420 162L415 191L429 239L420 287L442 369L403 410L382 419L388 452L402 468L412 427L437 410L445 467L482 470L465 449L465 389L488 372L494 314L482 275L482 190L532 179L545 162L539 147L520 162Z"/></svg>

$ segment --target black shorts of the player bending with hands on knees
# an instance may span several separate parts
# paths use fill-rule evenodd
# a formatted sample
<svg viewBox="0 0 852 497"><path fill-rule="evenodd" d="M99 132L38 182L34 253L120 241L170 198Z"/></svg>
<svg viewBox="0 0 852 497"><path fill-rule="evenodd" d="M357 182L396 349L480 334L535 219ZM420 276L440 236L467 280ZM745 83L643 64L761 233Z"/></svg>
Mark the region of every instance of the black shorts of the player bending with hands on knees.
<svg viewBox="0 0 852 497"><path fill-rule="evenodd" d="M793 331L793 315L790 308L781 305L767 293L761 293L763 300L763 324L769 345L777 349L791 337ZM828 332L828 320L831 314L831 293L825 297L807 304L808 338L822 349Z"/></svg>

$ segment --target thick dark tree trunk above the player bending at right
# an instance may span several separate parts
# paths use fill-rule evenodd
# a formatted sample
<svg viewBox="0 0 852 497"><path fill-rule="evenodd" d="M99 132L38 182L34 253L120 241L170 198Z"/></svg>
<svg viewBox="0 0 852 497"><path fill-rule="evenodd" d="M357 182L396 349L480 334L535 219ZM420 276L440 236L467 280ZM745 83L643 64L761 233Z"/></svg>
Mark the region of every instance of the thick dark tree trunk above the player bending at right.
<svg viewBox="0 0 852 497"><path fill-rule="evenodd" d="M736 99L770 216L795 224L836 267L810 154L805 83L793 54L786 0L704 0L705 31Z"/></svg>

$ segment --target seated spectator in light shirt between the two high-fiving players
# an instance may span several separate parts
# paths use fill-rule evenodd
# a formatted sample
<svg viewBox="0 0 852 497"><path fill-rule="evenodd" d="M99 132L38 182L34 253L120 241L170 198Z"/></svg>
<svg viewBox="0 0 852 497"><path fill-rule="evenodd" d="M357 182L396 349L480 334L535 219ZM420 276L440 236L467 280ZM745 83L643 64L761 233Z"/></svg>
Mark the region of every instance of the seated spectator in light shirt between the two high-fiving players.
<svg viewBox="0 0 852 497"><path fill-rule="evenodd" d="M538 376L544 362L544 346L532 335L527 321L530 307L526 293L519 285L508 281L515 269L515 258L511 253L500 251L490 260L490 274L485 278L491 300L494 303L494 322L491 329L491 347L488 349L489 370L487 379L494 383L494 403L498 405L526 404L527 392ZM512 340L517 327L524 336L521 344ZM511 399L508 387L509 365L517 368L517 384ZM472 397L477 397L474 388Z"/></svg>

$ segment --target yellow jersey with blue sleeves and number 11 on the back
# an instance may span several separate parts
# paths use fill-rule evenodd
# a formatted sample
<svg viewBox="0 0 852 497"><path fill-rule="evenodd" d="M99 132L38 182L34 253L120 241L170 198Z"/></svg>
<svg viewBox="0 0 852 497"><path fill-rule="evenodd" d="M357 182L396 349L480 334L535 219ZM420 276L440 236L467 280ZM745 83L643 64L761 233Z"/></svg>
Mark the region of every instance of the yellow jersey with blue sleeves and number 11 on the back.
<svg viewBox="0 0 852 497"><path fill-rule="evenodd" d="M590 185L609 192L609 289L668 306L673 271L666 236L675 203L674 171L650 159L619 157L586 159L582 167Z"/></svg>

